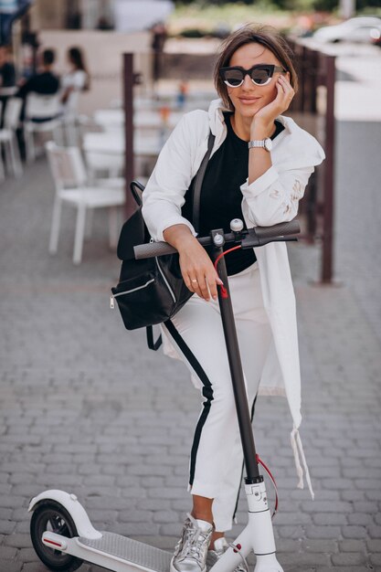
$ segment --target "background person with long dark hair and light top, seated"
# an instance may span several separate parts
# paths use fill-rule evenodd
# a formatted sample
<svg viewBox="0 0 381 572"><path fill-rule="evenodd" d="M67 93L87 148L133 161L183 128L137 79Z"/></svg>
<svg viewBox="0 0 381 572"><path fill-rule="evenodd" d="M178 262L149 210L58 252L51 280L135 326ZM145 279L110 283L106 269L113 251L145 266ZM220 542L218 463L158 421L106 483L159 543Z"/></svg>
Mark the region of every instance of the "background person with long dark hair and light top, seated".
<svg viewBox="0 0 381 572"><path fill-rule="evenodd" d="M80 91L90 90L90 74L85 64L85 58L80 48L68 50L69 73L62 78L61 102L64 113L76 111Z"/></svg>

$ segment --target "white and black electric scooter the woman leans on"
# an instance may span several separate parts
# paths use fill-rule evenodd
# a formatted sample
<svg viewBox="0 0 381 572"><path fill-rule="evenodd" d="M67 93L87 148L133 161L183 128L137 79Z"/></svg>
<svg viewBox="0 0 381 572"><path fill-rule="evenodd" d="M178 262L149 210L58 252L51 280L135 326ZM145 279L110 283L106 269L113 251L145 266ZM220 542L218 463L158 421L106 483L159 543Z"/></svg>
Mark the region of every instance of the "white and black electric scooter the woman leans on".
<svg viewBox="0 0 381 572"><path fill-rule="evenodd" d="M296 240L299 223L280 223L273 227L243 229L234 219L231 232L212 230L200 243L212 247L212 260L224 287L218 288L218 302L228 351L238 415L239 432L244 454L245 493L249 505L249 522L238 538L229 545L209 572L233 572L253 551L256 556L254 572L283 572L275 554L275 542L270 508L263 476L259 474L258 457L254 445L249 404L239 356L238 338L228 289L228 274L223 247L249 249L269 242ZM135 247L135 258L162 256L175 249L165 242L153 242ZM114 572L169 572L172 554L144 545L122 535L96 530L75 494L51 490L38 494L28 507L33 511L30 534L40 560L56 572L73 572L83 561L105 567Z"/></svg>

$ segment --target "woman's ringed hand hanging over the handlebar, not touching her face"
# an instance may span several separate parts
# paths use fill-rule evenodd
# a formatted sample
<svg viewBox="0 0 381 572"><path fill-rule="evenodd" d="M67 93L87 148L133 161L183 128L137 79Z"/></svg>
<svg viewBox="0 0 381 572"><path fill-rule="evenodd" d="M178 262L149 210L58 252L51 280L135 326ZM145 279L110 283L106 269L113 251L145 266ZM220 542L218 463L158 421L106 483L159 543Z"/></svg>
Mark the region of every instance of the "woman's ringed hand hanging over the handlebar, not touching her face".
<svg viewBox="0 0 381 572"><path fill-rule="evenodd" d="M179 249L180 269L186 287L200 298L217 300L217 285L222 285L213 262L196 238L188 240L184 249Z"/></svg>

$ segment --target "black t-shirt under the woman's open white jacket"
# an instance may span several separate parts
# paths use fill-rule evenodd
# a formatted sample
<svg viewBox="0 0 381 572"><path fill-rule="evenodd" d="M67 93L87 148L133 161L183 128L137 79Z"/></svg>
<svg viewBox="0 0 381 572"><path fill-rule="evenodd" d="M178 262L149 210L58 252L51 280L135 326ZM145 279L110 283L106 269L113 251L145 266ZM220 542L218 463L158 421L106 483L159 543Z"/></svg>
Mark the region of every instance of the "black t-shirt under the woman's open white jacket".
<svg viewBox="0 0 381 572"><path fill-rule="evenodd" d="M243 221L241 208L242 192L240 186L245 183L249 176L249 148L248 142L239 139L234 132L230 116L232 113L225 112L224 118L228 133L222 145L213 154L206 167L206 173L201 189L200 197L200 225L198 235L204 237L214 228L223 228L230 232L230 221L240 218ZM284 127L280 122L275 122L276 131L271 136L274 139ZM195 178L186 191L185 205L182 210L183 217L192 221L192 204L190 200ZM245 222L244 222L245 224ZM245 227L246 228L246 227ZM224 249L231 248L225 245ZM256 261L253 249L234 250L226 258L228 275L238 274Z"/></svg>

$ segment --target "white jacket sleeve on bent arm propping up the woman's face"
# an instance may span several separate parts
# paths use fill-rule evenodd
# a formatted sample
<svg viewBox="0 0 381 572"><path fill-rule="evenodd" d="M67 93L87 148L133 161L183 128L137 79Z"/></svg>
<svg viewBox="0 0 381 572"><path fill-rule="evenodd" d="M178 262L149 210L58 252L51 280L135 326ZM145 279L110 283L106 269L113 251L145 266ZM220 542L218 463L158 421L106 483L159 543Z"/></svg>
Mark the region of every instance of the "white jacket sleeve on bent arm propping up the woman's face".
<svg viewBox="0 0 381 572"><path fill-rule="evenodd" d="M255 226L270 227L296 217L313 166L278 172L272 165L256 181L241 185L247 216Z"/></svg>

